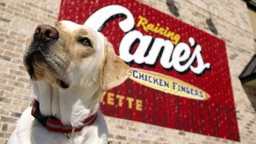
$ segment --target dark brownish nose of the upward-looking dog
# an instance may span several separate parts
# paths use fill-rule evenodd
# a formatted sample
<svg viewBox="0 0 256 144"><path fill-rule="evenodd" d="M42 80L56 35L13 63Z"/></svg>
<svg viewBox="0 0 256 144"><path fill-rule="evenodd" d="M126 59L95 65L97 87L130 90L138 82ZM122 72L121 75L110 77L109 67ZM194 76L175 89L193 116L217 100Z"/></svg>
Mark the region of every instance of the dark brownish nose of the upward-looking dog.
<svg viewBox="0 0 256 144"><path fill-rule="evenodd" d="M59 32L52 26L41 24L36 28L35 35L41 40L45 40L47 37L57 39Z"/></svg>

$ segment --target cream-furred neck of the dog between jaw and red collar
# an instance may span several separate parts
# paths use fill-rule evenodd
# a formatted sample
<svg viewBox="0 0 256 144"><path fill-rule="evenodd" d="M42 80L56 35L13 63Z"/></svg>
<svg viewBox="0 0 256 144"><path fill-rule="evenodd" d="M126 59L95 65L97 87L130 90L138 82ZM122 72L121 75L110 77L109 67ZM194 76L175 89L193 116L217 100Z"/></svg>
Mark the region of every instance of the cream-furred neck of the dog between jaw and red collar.
<svg viewBox="0 0 256 144"><path fill-rule="evenodd" d="M59 89L47 81L33 81L33 92L40 103L42 115L53 115L63 124L81 125L82 121L99 109L100 91L85 87Z"/></svg>

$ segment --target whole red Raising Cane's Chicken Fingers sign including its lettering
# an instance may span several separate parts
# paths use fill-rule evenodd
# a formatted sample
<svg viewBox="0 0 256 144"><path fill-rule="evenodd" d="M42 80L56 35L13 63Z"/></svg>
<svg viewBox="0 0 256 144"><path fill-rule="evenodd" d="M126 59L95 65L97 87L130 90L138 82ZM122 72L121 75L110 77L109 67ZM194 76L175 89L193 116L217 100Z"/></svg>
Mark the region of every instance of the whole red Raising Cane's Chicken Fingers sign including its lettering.
<svg viewBox="0 0 256 144"><path fill-rule="evenodd" d="M135 0L62 0L59 20L101 31L132 69L103 114L240 140L223 40Z"/></svg>

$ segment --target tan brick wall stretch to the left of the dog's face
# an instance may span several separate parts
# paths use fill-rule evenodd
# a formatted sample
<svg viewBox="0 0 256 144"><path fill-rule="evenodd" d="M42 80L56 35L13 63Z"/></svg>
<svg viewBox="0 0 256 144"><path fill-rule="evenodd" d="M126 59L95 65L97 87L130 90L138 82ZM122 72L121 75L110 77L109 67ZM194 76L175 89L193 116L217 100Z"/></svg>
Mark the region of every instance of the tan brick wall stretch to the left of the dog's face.
<svg viewBox="0 0 256 144"><path fill-rule="evenodd" d="M22 44L40 23L57 20L60 0L0 0L0 144L33 100Z"/></svg>

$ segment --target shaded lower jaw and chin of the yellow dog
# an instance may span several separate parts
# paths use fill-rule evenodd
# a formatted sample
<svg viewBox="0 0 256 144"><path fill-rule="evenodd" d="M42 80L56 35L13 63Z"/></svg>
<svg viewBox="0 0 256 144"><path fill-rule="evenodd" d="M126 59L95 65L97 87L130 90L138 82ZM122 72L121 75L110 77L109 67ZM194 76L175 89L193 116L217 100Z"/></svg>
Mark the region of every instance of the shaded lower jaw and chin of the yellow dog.
<svg viewBox="0 0 256 144"><path fill-rule="evenodd" d="M67 80L63 77L62 69L57 67L60 64L56 64L54 60L47 60L40 51L26 55L23 60L32 81L47 80L62 88L69 87Z"/></svg>

